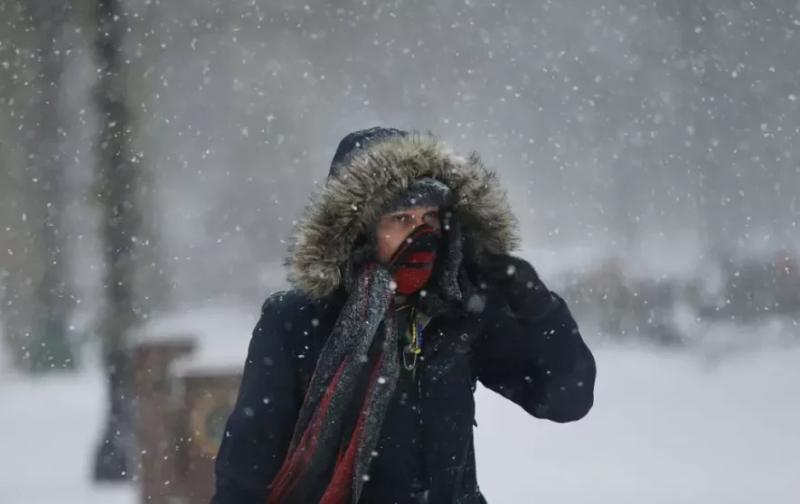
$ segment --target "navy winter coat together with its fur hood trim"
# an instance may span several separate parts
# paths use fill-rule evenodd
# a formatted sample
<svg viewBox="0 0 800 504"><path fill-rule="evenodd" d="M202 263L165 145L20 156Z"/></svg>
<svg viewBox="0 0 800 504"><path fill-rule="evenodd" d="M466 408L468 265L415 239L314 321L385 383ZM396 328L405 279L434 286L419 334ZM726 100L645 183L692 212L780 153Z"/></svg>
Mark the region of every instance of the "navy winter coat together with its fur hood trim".
<svg viewBox="0 0 800 504"><path fill-rule="evenodd" d="M452 211L464 223L470 250L502 253L515 241L513 216L477 157L455 157L438 141L414 137L382 142L368 158L348 163L342 172L369 176L348 178L355 187L323 190L300 224L294 288L263 305L216 461L215 504L263 504L281 467L320 349L345 301L346 261L363 232L357 221L332 216L382 204L381 191L391 193L404 176L433 176L457 192ZM551 294L524 318L490 292L481 310L450 310L429 321L422 360L413 375L403 371L389 406L360 504L485 502L472 430L478 381L537 418L569 422L586 415L595 362L567 304ZM423 480L427 500L411 496L413 479Z"/></svg>

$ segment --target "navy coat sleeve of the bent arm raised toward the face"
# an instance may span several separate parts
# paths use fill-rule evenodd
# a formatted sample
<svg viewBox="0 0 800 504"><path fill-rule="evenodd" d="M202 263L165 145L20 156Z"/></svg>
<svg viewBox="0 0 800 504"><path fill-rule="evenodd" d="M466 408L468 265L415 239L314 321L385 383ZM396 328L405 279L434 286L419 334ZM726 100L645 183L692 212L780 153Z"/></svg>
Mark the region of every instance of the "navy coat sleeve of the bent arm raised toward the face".
<svg viewBox="0 0 800 504"><path fill-rule="evenodd" d="M531 415L569 422L594 403L595 361L567 303L545 292L535 313L492 310L475 355L477 375Z"/></svg>

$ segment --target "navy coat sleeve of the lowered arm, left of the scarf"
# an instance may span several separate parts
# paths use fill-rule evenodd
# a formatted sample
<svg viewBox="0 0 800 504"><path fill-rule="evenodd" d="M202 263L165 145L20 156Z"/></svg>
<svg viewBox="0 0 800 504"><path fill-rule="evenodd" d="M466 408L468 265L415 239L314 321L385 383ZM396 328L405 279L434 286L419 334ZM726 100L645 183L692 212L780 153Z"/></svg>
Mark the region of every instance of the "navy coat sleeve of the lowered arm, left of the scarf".
<svg viewBox="0 0 800 504"><path fill-rule="evenodd" d="M253 330L236 405L214 466L212 504L263 504L288 450L300 405L282 293L264 303Z"/></svg>

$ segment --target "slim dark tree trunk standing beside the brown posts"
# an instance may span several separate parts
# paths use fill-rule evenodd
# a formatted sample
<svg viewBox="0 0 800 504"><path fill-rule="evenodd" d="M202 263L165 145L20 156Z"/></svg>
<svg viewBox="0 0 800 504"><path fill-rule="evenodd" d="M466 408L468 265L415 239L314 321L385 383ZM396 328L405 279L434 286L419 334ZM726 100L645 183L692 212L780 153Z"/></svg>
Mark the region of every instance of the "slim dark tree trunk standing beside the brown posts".
<svg viewBox="0 0 800 504"><path fill-rule="evenodd" d="M140 217L137 212L137 158L131 148L131 116L126 105L122 2L98 0L95 51L99 80L95 90L100 114L97 143L96 193L102 208L101 242L106 261L100 334L109 385L105 433L95 461L95 479L130 477L133 456L131 426L131 359L126 335L136 323L134 305L135 250Z"/></svg>

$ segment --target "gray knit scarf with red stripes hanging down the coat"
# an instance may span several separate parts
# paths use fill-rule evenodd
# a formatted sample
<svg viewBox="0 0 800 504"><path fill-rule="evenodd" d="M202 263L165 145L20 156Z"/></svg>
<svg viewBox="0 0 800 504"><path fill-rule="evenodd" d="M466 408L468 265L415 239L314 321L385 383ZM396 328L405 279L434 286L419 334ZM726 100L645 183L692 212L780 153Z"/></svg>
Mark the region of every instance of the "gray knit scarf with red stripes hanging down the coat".
<svg viewBox="0 0 800 504"><path fill-rule="evenodd" d="M374 262L361 270L320 352L268 502L358 502L400 372L391 282Z"/></svg>

